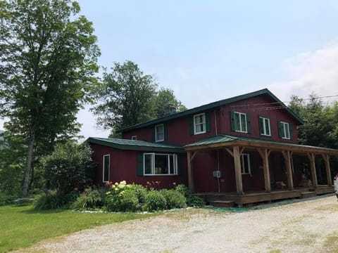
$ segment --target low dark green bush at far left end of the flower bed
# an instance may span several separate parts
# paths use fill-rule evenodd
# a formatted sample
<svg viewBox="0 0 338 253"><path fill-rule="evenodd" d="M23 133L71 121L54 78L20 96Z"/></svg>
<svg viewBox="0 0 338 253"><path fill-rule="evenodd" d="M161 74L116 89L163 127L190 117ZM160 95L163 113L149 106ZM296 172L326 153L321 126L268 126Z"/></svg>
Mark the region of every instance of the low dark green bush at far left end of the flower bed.
<svg viewBox="0 0 338 253"><path fill-rule="evenodd" d="M77 193L68 193L64 195L54 190L36 197L33 206L36 210L68 208L70 203L73 202L77 196Z"/></svg>

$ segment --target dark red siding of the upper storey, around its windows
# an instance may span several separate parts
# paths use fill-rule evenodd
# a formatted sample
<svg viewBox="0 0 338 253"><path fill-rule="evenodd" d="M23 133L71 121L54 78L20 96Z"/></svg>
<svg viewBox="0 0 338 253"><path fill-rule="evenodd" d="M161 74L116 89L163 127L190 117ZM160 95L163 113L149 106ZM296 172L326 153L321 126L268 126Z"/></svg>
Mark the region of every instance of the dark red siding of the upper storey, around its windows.
<svg viewBox="0 0 338 253"><path fill-rule="evenodd" d="M234 136L246 136L251 138L261 138L266 141L281 141L287 143L298 143L296 120L282 108L277 110L270 110L270 107L275 105L275 100L272 100L269 96L256 96L248 98L246 100L232 103L230 105L224 105L220 108L214 108L206 112L210 113L211 119L211 131L205 134L189 135L189 118L190 116L179 117L172 119L165 124L168 127L168 140L165 143L175 143L180 145L187 145L207 138L208 136L214 136L216 134L229 134ZM230 112L243 112L250 116L251 119L251 133L240 133L231 131ZM197 114L197 113L196 113ZM264 137L259 134L258 117L268 117L270 119L271 137ZM291 140L285 140L279 137L277 121L288 122L292 126ZM136 135L137 140L153 141L153 129L154 126L147 126L142 129L134 129L123 133L123 138L130 139Z"/></svg>

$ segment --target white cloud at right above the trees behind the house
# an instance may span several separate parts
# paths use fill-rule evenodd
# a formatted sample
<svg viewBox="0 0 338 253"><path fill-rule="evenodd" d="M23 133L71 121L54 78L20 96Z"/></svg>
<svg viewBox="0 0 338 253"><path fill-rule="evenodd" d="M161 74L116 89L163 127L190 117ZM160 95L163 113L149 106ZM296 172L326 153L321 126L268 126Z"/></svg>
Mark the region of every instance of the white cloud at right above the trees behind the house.
<svg viewBox="0 0 338 253"><path fill-rule="evenodd" d="M299 53L282 63L288 79L275 82L268 88L282 100L296 95L308 98L314 92L318 96L338 95L338 44L315 51Z"/></svg>

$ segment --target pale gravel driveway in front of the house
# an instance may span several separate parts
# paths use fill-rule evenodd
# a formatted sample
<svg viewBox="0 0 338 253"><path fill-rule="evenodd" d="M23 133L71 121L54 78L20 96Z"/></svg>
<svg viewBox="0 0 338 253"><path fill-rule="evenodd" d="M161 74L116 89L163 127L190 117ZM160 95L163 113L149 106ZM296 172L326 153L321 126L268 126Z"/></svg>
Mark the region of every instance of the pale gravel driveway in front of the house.
<svg viewBox="0 0 338 253"><path fill-rule="evenodd" d="M242 213L168 212L44 240L22 252L331 252L337 241L338 202L326 195Z"/></svg>

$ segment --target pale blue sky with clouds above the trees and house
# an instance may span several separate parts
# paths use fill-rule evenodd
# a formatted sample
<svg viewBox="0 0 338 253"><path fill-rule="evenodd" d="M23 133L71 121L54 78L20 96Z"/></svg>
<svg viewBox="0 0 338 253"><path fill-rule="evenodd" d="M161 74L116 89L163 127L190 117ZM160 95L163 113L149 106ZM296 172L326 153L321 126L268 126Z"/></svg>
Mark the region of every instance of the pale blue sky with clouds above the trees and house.
<svg viewBox="0 0 338 253"><path fill-rule="evenodd" d="M283 101L338 94L338 1L79 3L100 65L132 60L187 108L263 88ZM88 108L82 134L106 136Z"/></svg>

